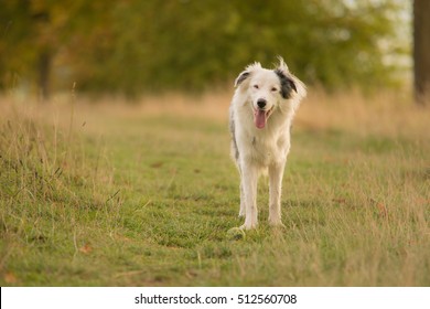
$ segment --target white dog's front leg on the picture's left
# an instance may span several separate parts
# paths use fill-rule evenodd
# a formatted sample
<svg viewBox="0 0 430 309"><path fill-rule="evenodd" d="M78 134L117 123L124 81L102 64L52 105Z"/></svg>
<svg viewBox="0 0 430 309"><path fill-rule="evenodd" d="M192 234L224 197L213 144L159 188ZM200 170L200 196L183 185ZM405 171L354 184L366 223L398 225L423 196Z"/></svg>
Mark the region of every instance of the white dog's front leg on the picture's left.
<svg viewBox="0 0 430 309"><path fill-rule="evenodd" d="M251 163L243 166L241 189L245 198L245 224L244 230L257 227L257 180L258 170Z"/></svg>

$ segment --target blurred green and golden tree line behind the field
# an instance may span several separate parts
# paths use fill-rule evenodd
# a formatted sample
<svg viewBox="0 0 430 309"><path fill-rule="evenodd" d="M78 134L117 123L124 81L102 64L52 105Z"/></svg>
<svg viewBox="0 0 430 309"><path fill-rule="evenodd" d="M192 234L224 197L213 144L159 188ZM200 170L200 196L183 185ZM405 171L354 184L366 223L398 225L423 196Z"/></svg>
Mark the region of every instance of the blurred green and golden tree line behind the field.
<svg viewBox="0 0 430 309"><path fill-rule="evenodd" d="M0 0L0 88L139 95L286 58L308 84L377 88L409 55L401 0Z"/></svg>

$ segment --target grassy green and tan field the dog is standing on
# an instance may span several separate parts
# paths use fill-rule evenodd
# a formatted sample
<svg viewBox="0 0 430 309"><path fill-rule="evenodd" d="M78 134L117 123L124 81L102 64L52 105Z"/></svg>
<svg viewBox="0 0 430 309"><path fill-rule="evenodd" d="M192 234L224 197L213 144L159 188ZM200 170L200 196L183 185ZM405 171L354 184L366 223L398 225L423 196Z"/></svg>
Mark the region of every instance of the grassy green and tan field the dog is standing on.
<svg viewBox="0 0 430 309"><path fill-rule="evenodd" d="M229 93L1 98L1 286L430 286L430 110L310 94L238 241Z"/></svg>

